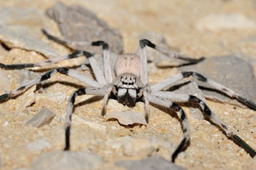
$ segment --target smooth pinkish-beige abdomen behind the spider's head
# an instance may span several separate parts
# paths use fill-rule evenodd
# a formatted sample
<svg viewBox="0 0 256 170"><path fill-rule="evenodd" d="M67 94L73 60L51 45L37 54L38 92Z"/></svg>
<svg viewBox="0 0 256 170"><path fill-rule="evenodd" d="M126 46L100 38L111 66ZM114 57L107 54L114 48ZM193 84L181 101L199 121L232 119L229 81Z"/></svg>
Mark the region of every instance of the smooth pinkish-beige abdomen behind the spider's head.
<svg viewBox="0 0 256 170"><path fill-rule="evenodd" d="M123 54L117 58L115 63L115 73L119 76L125 72L130 72L140 77L140 57L136 54Z"/></svg>

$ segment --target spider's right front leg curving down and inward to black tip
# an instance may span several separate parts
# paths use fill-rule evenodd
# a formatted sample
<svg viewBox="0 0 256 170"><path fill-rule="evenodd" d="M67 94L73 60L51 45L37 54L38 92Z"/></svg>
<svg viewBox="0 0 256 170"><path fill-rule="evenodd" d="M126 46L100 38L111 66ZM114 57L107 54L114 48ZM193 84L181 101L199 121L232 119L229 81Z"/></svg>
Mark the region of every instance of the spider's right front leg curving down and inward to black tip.
<svg viewBox="0 0 256 170"><path fill-rule="evenodd" d="M180 119L181 119L181 123L182 123L184 137L183 137L182 141L180 142L178 148L175 150L175 152L172 155L172 161L174 162L176 157L182 151L185 144L189 141L189 138L190 138L190 131L189 131L189 126L188 126L188 122L187 122L187 116L186 116L184 110L181 107L179 107L176 103L173 103L165 98L162 98L161 96L154 95L152 93L147 93L147 96L148 96L148 101L151 103L155 103L157 105L171 108L176 112L180 112Z"/></svg>

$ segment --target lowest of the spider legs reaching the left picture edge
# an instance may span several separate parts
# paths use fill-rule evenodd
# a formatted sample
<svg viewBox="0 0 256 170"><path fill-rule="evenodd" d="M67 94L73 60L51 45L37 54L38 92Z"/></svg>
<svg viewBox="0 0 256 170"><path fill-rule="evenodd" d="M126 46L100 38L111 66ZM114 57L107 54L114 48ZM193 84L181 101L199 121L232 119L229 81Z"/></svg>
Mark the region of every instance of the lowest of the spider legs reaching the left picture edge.
<svg viewBox="0 0 256 170"><path fill-rule="evenodd" d="M18 86L17 88L13 89L12 91L10 91L9 93L5 93L3 95L0 95L0 101L5 100L11 96L15 96L17 94L20 94L22 92L24 92L25 90L27 90L29 87L34 86L36 84L41 83L42 81L48 80L50 79L53 75L55 75L57 72L59 72L60 74L63 75L67 75L70 76L84 84L87 84L89 86L94 86L94 87L102 87L103 85L90 79L89 77L82 75L74 70L71 70L69 68L66 67L61 67L61 68L55 68L52 69L48 72L46 72L46 74L42 75L41 77L38 77L36 79L33 79L23 85Z"/></svg>

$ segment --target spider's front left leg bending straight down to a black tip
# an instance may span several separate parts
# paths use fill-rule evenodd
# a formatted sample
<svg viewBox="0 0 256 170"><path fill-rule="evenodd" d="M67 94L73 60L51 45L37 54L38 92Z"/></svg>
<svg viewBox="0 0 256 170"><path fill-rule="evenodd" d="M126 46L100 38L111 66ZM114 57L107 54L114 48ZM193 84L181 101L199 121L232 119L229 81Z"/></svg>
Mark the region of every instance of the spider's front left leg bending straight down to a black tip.
<svg viewBox="0 0 256 170"><path fill-rule="evenodd" d="M92 95L100 95L104 96L105 93L107 92L107 89L105 87L103 88L98 88L98 87L84 87L76 90L71 94L68 102L68 109L66 113L66 120L65 120L65 127L66 127L66 146L65 146L65 151L70 149L70 128L71 128L71 118L72 118L72 112L73 112L73 107L74 103L76 100L77 95L84 95L84 94L92 94Z"/></svg>

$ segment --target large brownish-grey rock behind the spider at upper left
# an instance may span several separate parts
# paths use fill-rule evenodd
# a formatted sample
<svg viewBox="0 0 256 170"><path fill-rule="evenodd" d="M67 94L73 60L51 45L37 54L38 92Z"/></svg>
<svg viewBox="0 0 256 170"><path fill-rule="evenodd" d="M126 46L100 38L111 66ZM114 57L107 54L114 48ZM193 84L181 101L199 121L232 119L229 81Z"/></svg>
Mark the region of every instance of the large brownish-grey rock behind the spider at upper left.
<svg viewBox="0 0 256 170"><path fill-rule="evenodd" d="M123 52L121 34L110 28L106 22L100 20L94 13L81 6L68 7L57 2L47 9L47 15L58 23L63 37L70 41L98 41L109 43L111 51ZM92 53L102 53L102 47L72 47L75 50L86 50Z"/></svg>

